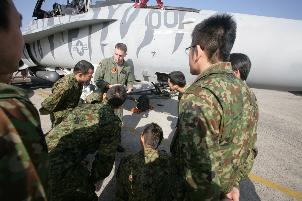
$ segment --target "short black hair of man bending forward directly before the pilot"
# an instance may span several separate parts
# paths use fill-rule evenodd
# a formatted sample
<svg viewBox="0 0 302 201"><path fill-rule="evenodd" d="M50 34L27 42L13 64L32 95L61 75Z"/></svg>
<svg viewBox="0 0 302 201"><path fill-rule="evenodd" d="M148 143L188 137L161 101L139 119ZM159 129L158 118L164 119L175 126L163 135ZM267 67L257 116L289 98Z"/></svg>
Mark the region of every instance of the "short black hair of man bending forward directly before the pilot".
<svg viewBox="0 0 302 201"><path fill-rule="evenodd" d="M123 105L127 98L126 87L121 85L112 86L106 94L109 104L115 108Z"/></svg>

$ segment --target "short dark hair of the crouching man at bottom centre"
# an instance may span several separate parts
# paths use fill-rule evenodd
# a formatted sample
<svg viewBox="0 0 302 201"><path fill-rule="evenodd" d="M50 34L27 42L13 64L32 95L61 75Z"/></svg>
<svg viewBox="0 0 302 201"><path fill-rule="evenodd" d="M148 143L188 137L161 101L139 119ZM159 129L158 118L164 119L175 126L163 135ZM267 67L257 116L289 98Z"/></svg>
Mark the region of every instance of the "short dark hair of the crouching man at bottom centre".
<svg viewBox="0 0 302 201"><path fill-rule="evenodd" d="M162 142L164 134L162 128L158 124L152 122L145 128L142 136L145 139L144 143L146 148L157 149Z"/></svg>

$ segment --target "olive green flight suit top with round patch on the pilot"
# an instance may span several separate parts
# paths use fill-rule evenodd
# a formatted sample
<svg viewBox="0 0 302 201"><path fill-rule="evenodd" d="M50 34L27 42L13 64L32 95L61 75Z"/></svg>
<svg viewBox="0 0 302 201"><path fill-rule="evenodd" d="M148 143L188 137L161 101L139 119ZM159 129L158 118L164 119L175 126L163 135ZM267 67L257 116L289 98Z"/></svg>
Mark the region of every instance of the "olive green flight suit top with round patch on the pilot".
<svg viewBox="0 0 302 201"><path fill-rule="evenodd" d="M117 77L119 78L117 81ZM120 84L126 85L126 89L133 87L134 79L131 74L131 66L124 60L120 72L117 71L114 56L105 58L100 61L98 68L95 71L95 85L101 89L101 93L107 92L105 88L107 84Z"/></svg>

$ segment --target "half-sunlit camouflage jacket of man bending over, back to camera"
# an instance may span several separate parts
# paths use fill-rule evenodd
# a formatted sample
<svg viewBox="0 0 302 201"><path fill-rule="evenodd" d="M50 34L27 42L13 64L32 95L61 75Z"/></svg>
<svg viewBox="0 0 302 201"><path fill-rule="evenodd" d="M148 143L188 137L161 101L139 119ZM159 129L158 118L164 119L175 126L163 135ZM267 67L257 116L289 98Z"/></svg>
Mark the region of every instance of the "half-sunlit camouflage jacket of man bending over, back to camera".
<svg viewBox="0 0 302 201"><path fill-rule="evenodd" d="M104 100L76 107L46 134L52 177L78 165L96 151L91 178L106 178L113 167L120 139L120 119Z"/></svg>

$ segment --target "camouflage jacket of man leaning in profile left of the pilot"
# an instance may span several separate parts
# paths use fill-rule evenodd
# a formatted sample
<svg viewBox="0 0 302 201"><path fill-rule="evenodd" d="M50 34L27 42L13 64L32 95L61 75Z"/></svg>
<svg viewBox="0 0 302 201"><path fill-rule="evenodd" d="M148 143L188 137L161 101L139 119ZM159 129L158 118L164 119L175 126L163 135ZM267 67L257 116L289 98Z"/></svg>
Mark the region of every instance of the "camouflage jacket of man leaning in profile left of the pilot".
<svg viewBox="0 0 302 201"><path fill-rule="evenodd" d="M42 102L41 115L50 114L52 127L68 116L79 103L83 83L78 83L75 74L68 74L54 83L51 94Z"/></svg>

